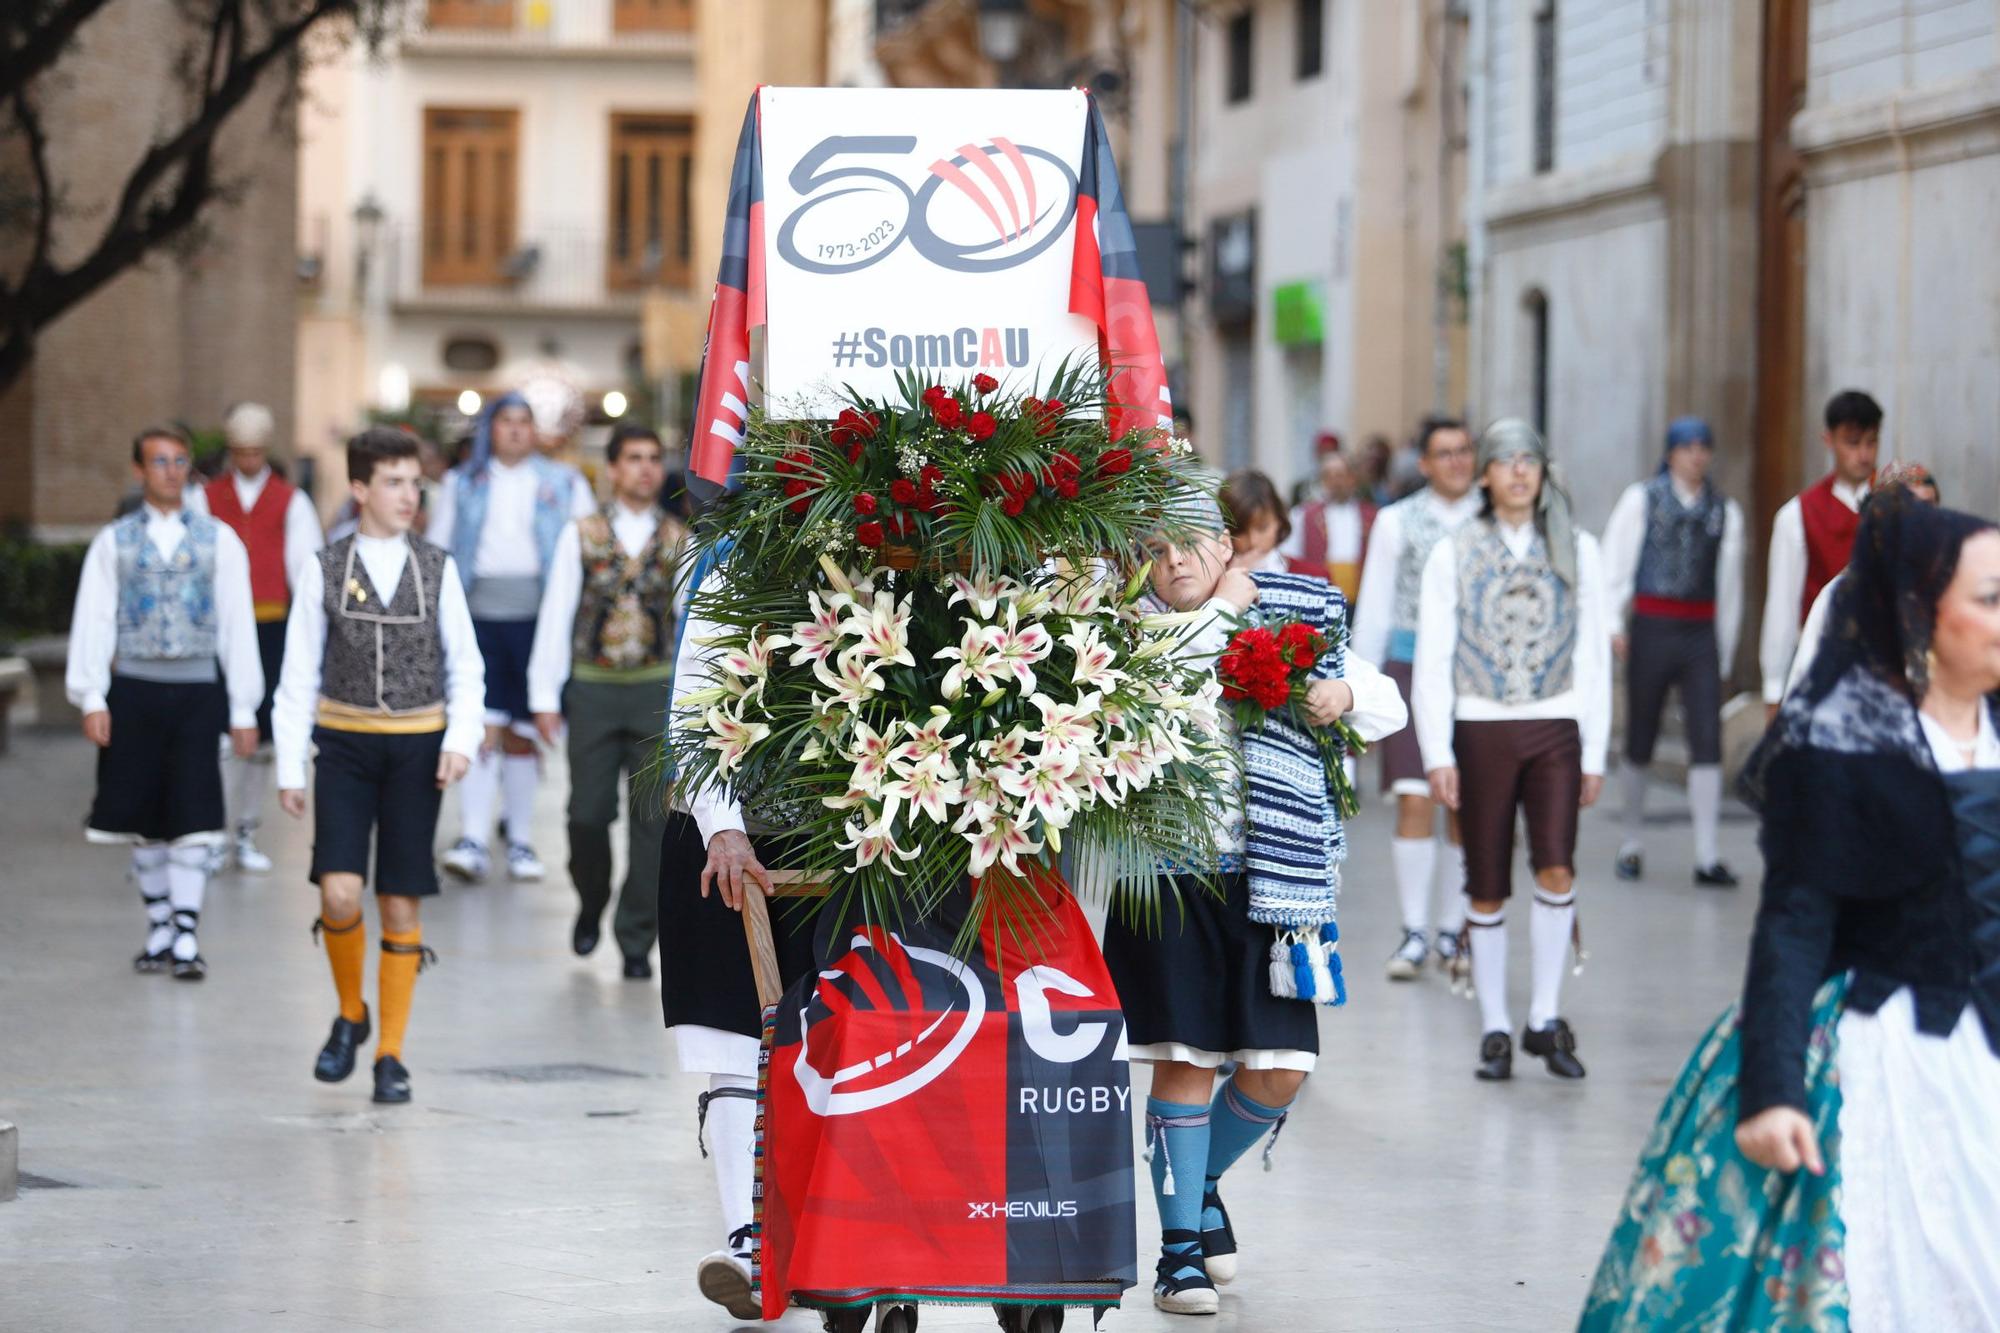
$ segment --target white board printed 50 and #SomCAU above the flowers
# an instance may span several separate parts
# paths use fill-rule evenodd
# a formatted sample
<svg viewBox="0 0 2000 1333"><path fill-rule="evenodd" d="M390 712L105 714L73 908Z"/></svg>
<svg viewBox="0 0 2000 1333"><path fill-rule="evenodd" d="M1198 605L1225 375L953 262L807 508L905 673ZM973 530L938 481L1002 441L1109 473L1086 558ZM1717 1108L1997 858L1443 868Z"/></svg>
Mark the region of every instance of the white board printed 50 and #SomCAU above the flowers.
<svg viewBox="0 0 2000 1333"><path fill-rule="evenodd" d="M1068 312L1078 90L764 88L766 402L986 372L1032 386L1096 326Z"/></svg>

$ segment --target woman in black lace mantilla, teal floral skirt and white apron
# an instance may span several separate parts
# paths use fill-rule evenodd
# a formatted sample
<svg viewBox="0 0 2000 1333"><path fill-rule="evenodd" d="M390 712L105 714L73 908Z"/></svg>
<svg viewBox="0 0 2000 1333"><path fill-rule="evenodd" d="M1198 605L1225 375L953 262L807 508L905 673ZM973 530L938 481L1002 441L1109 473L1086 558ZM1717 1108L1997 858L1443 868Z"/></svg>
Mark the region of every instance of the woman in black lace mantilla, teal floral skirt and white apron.
<svg viewBox="0 0 2000 1333"><path fill-rule="evenodd" d="M1750 759L1742 1005L1662 1109L1584 1329L1996 1329L2000 532L1902 488Z"/></svg>

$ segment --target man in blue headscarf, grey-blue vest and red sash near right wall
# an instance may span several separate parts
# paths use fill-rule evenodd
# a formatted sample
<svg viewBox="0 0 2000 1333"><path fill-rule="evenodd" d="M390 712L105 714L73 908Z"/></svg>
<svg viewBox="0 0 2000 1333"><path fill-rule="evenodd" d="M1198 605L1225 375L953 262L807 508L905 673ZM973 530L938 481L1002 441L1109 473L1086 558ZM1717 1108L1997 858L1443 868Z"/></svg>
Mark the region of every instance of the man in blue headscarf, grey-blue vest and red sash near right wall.
<svg viewBox="0 0 2000 1333"><path fill-rule="evenodd" d="M1722 681L1744 608L1744 514L1708 480L1714 432L1700 416L1666 428L1660 470L1626 486L1604 524L1604 602L1612 654L1626 664L1624 845L1618 879L1644 873L1646 765L1666 691L1688 717L1694 883L1734 889L1722 865ZM1630 604L1630 620L1626 606Z"/></svg>

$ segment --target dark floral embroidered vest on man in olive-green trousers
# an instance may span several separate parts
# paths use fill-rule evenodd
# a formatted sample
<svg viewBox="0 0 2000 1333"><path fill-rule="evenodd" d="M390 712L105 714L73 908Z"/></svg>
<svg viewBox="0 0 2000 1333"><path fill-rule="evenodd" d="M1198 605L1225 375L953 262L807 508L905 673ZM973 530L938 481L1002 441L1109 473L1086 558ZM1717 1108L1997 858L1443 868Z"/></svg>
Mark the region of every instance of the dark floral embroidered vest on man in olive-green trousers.
<svg viewBox="0 0 2000 1333"><path fill-rule="evenodd" d="M670 666L674 644L674 572L680 564L680 526L656 514L646 548L628 556L610 518L580 518L576 534L584 552L584 590L576 602L570 654L578 666L646 671Z"/></svg>

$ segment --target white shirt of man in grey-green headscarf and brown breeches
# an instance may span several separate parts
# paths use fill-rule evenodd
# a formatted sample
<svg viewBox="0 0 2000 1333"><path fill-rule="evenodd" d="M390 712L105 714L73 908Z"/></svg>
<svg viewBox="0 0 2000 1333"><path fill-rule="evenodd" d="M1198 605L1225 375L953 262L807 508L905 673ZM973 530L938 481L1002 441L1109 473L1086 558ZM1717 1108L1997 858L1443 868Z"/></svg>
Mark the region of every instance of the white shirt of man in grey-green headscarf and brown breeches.
<svg viewBox="0 0 2000 1333"><path fill-rule="evenodd" d="M1534 544L1534 524L1498 524L1514 558ZM1560 695L1524 705L1504 705L1476 695L1460 695L1452 677L1458 652L1458 544L1444 540L1424 560L1422 614L1416 626L1416 662L1410 671L1416 705L1416 743L1424 753L1424 773L1456 769L1452 723L1514 723L1576 719L1584 743L1584 773L1604 773L1604 751L1612 735L1612 644L1604 624L1604 572L1598 542L1576 532L1576 656L1574 683Z"/></svg>

